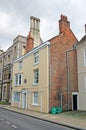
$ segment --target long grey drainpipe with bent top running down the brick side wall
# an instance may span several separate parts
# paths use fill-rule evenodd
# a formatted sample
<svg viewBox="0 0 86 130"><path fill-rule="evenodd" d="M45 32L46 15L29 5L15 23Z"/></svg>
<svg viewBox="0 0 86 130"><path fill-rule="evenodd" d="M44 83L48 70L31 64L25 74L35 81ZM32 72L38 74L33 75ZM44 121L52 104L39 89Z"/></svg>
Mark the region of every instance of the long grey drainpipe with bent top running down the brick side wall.
<svg viewBox="0 0 86 130"><path fill-rule="evenodd" d="M75 47L73 46L73 48L66 51L68 110L70 110L70 66L69 66L68 53L74 50L75 50Z"/></svg>

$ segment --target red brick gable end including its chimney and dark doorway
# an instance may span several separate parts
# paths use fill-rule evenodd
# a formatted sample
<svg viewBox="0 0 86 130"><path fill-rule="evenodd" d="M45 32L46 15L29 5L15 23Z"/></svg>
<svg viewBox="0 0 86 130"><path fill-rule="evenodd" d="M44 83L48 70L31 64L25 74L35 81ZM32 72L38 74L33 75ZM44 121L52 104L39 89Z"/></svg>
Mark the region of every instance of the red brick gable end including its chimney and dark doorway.
<svg viewBox="0 0 86 130"><path fill-rule="evenodd" d="M50 93L49 107L61 106L64 110L77 109L77 63L73 45L77 38L70 22L61 15L59 35L50 40ZM75 96L76 95L76 96Z"/></svg>

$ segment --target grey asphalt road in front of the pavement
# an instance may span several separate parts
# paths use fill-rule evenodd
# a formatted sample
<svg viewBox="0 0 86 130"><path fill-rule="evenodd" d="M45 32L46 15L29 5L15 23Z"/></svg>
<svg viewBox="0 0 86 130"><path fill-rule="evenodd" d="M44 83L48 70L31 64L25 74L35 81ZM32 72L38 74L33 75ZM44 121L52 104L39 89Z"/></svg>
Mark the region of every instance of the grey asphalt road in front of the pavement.
<svg viewBox="0 0 86 130"><path fill-rule="evenodd" d="M0 130L73 130L0 108Z"/></svg>

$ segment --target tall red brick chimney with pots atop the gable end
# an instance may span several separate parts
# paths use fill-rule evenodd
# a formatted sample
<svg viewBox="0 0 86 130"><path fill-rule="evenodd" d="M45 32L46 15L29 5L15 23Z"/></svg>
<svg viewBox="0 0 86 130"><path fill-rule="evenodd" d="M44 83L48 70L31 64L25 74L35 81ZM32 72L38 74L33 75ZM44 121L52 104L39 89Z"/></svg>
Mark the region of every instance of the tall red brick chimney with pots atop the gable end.
<svg viewBox="0 0 86 130"><path fill-rule="evenodd" d="M67 16L61 15L59 20L59 34L65 34L68 29L70 29L70 22L68 21Z"/></svg>

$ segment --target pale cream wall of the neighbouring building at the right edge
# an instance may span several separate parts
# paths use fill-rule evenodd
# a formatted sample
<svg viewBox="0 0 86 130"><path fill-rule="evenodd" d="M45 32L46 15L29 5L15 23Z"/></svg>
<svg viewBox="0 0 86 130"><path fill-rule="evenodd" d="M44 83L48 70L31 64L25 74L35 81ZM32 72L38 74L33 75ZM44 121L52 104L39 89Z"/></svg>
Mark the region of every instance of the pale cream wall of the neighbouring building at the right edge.
<svg viewBox="0 0 86 130"><path fill-rule="evenodd" d="M86 42L80 43L77 46L77 65L78 65L78 88L79 88L79 110L86 110L86 89L85 76L86 66L84 66L84 50Z"/></svg>

